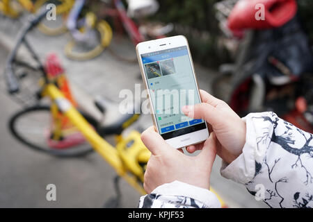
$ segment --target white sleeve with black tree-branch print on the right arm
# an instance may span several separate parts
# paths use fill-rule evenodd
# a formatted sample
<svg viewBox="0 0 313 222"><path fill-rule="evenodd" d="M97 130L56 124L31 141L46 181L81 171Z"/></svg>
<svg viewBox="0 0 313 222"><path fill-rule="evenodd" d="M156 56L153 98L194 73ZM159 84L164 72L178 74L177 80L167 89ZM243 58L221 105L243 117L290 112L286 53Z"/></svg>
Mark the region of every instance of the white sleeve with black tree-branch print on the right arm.
<svg viewBox="0 0 313 222"><path fill-rule="evenodd" d="M313 207L313 135L273 112L248 114L243 153L222 176L269 207Z"/></svg>

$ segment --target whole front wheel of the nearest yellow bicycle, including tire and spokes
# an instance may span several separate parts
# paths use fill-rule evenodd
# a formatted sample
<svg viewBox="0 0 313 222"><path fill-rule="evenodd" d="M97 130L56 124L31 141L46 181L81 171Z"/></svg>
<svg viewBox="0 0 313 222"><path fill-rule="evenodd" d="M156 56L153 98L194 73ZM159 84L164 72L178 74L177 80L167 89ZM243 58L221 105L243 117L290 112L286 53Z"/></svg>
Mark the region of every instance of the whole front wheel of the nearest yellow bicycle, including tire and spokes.
<svg viewBox="0 0 313 222"><path fill-rule="evenodd" d="M90 121L90 119L87 119ZM86 155L93 148L79 135L78 131L73 137L67 139L67 146L63 140L63 146L57 146L51 141L51 112L49 106L36 105L17 112L9 121L10 133L22 142L35 149L60 157L74 157ZM69 140L69 139L72 139Z"/></svg>

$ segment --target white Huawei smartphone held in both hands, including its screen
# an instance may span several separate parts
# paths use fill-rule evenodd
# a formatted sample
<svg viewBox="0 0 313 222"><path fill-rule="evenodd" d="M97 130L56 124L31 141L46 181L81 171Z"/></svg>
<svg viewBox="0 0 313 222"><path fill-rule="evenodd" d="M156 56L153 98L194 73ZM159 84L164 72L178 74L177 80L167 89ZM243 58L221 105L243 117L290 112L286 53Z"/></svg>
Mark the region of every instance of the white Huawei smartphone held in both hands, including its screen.
<svg viewBox="0 0 313 222"><path fill-rule="evenodd" d="M207 123L182 113L183 105L201 103L186 37L177 35L141 42L136 53L153 123L163 139L174 148L206 140Z"/></svg>

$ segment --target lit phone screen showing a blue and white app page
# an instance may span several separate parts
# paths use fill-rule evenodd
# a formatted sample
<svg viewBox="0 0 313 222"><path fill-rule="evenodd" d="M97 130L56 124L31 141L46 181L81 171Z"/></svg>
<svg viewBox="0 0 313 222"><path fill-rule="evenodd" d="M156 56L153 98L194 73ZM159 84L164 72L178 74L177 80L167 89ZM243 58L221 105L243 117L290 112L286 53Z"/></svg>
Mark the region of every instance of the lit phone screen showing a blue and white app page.
<svg viewBox="0 0 313 222"><path fill-rule="evenodd" d="M190 119L182 106L200 103L187 46L141 54L160 135L170 139L207 128Z"/></svg>

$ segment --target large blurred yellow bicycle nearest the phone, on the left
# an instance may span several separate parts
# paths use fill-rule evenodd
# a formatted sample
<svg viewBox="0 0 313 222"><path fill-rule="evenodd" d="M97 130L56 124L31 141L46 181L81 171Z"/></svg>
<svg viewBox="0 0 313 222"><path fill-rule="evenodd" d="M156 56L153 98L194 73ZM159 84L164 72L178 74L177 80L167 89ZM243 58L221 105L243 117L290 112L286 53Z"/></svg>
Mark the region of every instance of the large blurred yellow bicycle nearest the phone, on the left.
<svg viewBox="0 0 313 222"><path fill-rule="evenodd" d="M32 89L36 89L35 95L39 99L39 102L28 105L13 115L10 119L10 130L20 142L52 155L71 157L97 151L118 175L115 178L117 198L113 205L118 207L118 178L124 178L134 189L145 194L143 175L150 151L141 142L140 133L137 131L132 131L127 136L122 135L123 130L134 123L139 115L120 114L113 119L109 117L109 113L116 114L118 107L105 99L93 103L79 96L75 101L74 93L71 93L74 87L66 80L56 56L49 56L43 65L25 38L40 19L45 17L46 12L41 12L22 29L14 49L8 56L5 71L8 92L17 96L24 93L25 85L31 85ZM17 52L22 45L26 46L35 63L19 60ZM24 67L31 73L21 72L18 67ZM49 103L45 99L49 99ZM79 105L81 100L84 100L83 105ZM127 107L131 108L131 105ZM134 106L131 109L134 109ZM99 117L93 114L95 110L100 113ZM107 117L109 123L102 121L102 116ZM115 135L115 146L106 142L106 135ZM221 198L220 201L225 206Z"/></svg>

